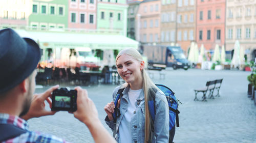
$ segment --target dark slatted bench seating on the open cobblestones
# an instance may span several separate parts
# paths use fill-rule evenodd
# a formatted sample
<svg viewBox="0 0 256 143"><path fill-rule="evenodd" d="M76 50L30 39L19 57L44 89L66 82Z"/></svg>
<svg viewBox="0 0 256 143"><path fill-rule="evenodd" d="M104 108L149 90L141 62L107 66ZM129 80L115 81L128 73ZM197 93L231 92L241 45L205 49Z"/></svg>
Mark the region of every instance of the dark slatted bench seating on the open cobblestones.
<svg viewBox="0 0 256 143"><path fill-rule="evenodd" d="M208 95L209 98L214 99L214 91L215 90L217 90L217 92L218 92L217 95L215 95L215 96L220 97L219 91L220 91L220 88L221 88L222 80L223 79L207 81L204 88L195 89L194 90L195 91L195 99L194 99L194 101L196 101L196 100L198 101L197 94L199 92L203 93L202 101L207 101L206 100L206 93L207 93L207 91L209 91L209 95Z"/></svg>

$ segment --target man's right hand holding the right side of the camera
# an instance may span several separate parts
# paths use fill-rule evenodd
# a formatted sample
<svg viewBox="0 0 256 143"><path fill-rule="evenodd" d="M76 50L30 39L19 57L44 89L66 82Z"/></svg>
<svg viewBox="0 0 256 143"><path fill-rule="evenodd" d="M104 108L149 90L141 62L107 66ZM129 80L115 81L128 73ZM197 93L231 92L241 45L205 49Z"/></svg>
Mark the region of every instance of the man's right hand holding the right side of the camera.
<svg viewBox="0 0 256 143"><path fill-rule="evenodd" d="M76 87L75 90L77 90L77 110L74 112L74 117L90 126L99 120L96 106L88 97L87 90L80 87Z"/></svg>

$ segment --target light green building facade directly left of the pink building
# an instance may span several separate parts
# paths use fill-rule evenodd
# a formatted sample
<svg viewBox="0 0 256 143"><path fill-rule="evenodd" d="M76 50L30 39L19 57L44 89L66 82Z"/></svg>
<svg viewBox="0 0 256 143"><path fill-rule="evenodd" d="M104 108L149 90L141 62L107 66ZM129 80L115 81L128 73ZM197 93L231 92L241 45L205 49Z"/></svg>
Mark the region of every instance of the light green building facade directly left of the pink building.
<svg viewBox="0 0 256 143"><path fill-rule="evenodd" d="M28 25L34 30L68 27L68 1L33 0Z"/></svg>

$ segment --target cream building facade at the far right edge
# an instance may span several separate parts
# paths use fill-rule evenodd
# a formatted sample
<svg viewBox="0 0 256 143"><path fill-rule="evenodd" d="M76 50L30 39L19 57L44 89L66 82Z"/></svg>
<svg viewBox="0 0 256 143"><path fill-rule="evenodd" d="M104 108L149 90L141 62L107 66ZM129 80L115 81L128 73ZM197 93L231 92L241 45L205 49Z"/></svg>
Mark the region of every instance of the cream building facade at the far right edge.
<svg viewBox="0 0 256 143"><path fill-rule="evenodd" d="M248 60L256 54L256 1L227 0L226 50L234 49L238 40L245 49Z"/></svg>

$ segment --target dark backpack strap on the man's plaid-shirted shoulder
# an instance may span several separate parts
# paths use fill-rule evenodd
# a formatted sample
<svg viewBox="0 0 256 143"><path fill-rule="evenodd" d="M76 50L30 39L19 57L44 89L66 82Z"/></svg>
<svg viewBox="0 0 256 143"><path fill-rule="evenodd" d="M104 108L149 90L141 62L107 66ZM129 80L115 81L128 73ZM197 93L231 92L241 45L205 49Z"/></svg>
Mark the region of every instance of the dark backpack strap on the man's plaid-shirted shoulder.
<svg viewBox="0 0 256 143"><path fill-rule="evenodd" d="M0 142L19 136L27 131L12 124L0 124Z"/></svg>

